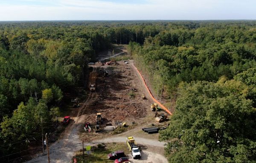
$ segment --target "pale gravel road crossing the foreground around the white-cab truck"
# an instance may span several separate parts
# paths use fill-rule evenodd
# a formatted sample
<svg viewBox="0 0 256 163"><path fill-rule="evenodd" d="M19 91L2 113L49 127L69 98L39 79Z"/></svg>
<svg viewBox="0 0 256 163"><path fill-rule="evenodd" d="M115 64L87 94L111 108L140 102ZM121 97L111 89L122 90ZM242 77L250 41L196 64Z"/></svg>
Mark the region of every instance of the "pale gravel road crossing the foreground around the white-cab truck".
<svg viewBox="0 0 256 163"><path fill-rule="evenodd" d="M50 162L52 163L70 163L70 160L74 156L74 153L79 149L82 149L81 140L79 140L77 129L81 124L75 124L71 134L68 136L68 139L61 139L56 143L52 144L49 147ZM105 138L98 141L93 141L90 143L84 143L84 146L93 146L98 143L111 143L111 142L123 142L125 143L126 137L111 137ZM137 142L143 144L143 146L150 146L151 148L163 147L164 143L151 139L136 138ZM149 147L147 147L149 148ZM133 163L167 163L167 160L163 155L156 154L148 151L147 149L142 151L142 158L140 160L133 160ZM44 155L38 155L38 157L33 158L32 160L27 161L27 163L47 163L48 157L45 152Z"/></svg>

